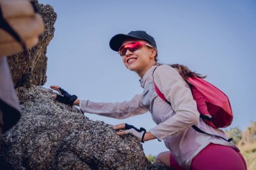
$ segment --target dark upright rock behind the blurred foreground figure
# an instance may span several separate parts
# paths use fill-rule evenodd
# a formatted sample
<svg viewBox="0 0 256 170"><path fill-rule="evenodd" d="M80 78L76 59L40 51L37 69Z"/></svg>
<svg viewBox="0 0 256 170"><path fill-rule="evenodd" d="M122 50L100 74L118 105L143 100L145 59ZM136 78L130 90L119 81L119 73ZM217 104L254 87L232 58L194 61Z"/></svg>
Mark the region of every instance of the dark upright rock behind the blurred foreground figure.
<svg viewBox="0 0 256 170"><path fill-rule="evenodd" d="M55 24L57 14L51 5L42 5L38 4L37 0L33 1L36 3L39 13L44 20L45 30L42 36L40 36L38 45L28 50L28 56L24 53L19 53L8 57L15 88L44 85L46 82L46 48L53 39L55 31L53 24Z"/></svg>

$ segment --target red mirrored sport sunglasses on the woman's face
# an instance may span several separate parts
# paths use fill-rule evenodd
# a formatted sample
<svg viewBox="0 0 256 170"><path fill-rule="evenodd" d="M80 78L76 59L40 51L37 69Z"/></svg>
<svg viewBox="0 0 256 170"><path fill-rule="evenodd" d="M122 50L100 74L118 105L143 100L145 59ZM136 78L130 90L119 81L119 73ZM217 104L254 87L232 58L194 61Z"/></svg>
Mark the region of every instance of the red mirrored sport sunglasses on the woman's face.
<svg viewBox="0 0 256 170"><path fill-rule="evenodd" d="M142 48L143 45L154 48L153 46L151 46L147 42L129 42L128 44L125 44L125 45L123 45L119 48L119 55L120 56L125 56L127 50L129 50L131 52L135 52L135 50L138 50L138 49Z"/></svg>

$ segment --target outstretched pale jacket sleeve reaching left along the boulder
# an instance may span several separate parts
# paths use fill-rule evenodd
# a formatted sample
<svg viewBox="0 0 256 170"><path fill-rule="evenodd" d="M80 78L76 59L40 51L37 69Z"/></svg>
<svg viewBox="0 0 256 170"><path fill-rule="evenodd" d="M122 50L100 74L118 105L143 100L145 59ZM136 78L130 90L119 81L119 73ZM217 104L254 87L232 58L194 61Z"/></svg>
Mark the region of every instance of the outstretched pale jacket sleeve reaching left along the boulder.
<svg viewBox="0 0 256 170"><path fill-rule="evenodd" d="M135 95L130 101L123 101L120 103L81 100L79 103L79 108L83 112L117 119L125 119L148 112L148 109L141 105L141 95L139 94Z"/></svg>

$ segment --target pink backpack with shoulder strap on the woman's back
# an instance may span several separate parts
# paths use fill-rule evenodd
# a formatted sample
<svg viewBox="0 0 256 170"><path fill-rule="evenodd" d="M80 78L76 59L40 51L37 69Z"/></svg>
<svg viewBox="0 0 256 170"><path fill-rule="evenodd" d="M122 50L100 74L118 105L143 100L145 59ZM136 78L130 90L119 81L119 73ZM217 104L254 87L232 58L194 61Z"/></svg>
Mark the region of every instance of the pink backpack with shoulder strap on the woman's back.
<svg viewBox="0 0 256 170"><path fill-rule="evenodd" d="M153 77L154 81L154 77ZM197 103L200 118L214 128L225 128L233 119L232 109L228 97L214 85L198 77L188 77L186 80L191 87L193 98ZM166 102L164 94L156 86L156 93Z"/></svg>

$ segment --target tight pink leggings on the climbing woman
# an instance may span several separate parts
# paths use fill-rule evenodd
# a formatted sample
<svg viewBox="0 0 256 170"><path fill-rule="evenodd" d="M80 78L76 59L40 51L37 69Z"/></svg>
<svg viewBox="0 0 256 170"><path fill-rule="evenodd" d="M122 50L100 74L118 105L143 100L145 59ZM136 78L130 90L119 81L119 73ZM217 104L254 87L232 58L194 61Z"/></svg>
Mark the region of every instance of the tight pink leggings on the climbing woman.
<svg viewBox="0 0 256 170"><path fill-rule="evenodd" d="M175 170L185 170L170 153L170 167ZM193 159L191 170L246 170L245 159L240 152L229 146L209 144Z"/></svg>

